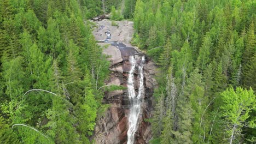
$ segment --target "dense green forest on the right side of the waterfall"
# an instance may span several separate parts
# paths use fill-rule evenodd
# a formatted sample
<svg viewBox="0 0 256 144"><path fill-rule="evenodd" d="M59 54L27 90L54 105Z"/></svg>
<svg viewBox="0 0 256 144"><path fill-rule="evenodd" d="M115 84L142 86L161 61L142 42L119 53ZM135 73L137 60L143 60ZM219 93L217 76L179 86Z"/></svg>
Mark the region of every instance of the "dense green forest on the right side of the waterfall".
<svg viewBox="0 0 256 144"><path fill-rule="evenodd" d="M133 44L159 65L152 143L255 143L255 1L143 1Z"/></svg>

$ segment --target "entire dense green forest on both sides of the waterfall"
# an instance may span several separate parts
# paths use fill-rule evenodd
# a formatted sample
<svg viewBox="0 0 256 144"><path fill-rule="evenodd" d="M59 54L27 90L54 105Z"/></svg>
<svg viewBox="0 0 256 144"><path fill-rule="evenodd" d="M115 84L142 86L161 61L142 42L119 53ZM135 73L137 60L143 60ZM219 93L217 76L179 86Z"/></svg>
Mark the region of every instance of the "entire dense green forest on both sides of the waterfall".
<svg viewBox="0 0 256 144"><path fill-rule="evenodd" d="M255 143L255 0L1 0L1 143L91 143L109 62L92 17L154 60L150 143ZM115 89L115 88L113 88ZM21 125L25 124L25 125Z"/></svg>

